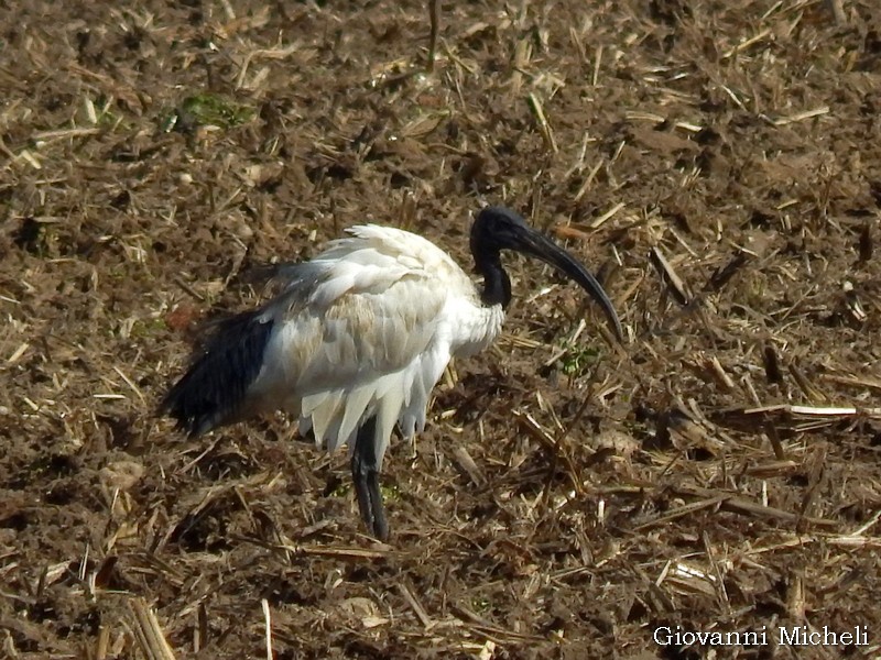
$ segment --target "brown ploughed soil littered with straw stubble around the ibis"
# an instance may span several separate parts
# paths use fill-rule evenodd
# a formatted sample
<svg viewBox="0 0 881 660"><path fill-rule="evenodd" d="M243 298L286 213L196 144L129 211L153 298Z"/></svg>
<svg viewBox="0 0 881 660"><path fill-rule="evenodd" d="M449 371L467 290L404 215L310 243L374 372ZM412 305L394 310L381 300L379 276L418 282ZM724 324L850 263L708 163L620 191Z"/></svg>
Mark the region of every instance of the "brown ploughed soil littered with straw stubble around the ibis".
<svg viewBox="0 0 881 660"><path fill-rule="evenodd" d="M881 8L841 9L444 2L429 67L415 0L3 3L2 654L878 652ZM274 262L377 221L469 267L487 202L627 341L508 258L502 339L387 458L388 544L283 417L157 418Z"/></svg>

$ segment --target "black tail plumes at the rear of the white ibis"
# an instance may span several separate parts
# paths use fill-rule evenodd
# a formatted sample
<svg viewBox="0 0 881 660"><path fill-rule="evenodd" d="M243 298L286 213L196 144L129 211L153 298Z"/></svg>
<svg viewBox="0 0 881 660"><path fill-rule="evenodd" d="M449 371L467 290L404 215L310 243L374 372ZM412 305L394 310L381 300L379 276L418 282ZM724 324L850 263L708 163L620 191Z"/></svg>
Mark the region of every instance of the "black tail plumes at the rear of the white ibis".
<svg viewBox="0 0 881 660"><path fill-rule="evenodd" d="M160 405L193 438L236 417L257 380L273 321L262 310L221 321L189 370Z"/></svg>

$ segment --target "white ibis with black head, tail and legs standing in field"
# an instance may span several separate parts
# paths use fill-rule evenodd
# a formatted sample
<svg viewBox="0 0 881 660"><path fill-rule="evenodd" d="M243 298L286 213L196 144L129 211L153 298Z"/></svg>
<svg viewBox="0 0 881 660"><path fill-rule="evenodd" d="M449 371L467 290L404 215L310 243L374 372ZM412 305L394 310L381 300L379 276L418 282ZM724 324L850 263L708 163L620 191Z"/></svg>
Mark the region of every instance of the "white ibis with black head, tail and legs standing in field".
<svg viewBox="0 0 881 660"><path fill-rule="evenodd" d="M318 448L347 446L361 518L385 541L379 476L393 429L405 439L422 431L450 359L499 337L512 296L503 251L550 264L598 304L619 341L623 330L587 267L508 208L485 207L471 226L482 283L418 234L378 224L347 232L311 261L280 267L275 297L217 323L160 414L195 438L283 410Z"/></svg>

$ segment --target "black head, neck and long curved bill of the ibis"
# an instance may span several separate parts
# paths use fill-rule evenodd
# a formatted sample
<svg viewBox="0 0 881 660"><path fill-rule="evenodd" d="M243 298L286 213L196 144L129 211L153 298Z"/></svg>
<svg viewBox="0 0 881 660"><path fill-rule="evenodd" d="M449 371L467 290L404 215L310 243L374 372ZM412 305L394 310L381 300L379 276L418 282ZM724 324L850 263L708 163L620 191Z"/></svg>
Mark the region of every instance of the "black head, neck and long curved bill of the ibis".
<svg viewBox="0 0 881 660"><path fill-rule="evenodd" d="M511 300L511 280L499 258L502 250L540 258L580 285L602 308L618 339L623 339L618 314L597 278L572 254L502 207L485 208L471 226L471 254L477 271L483 275L483 302L507 306Z"/></svg>

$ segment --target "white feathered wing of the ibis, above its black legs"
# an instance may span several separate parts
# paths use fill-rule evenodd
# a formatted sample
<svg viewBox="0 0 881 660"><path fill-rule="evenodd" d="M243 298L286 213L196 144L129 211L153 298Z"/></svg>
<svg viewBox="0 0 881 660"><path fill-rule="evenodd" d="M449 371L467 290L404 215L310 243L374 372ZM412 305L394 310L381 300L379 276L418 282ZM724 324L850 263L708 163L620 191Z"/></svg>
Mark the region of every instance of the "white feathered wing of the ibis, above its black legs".
<svg viewBox="0 0 881 660"><path fill-rule="evenodd" d="M381 462L396 421L407 436L425 422L450 356L450 284L468 280L420 237L378 227L354 233L291 268L286 290L265 308L275 329L248 396L300 415L301 428L331 451L352 447L361 420L376 415Z"/></svg>

